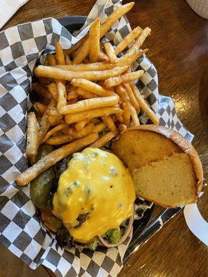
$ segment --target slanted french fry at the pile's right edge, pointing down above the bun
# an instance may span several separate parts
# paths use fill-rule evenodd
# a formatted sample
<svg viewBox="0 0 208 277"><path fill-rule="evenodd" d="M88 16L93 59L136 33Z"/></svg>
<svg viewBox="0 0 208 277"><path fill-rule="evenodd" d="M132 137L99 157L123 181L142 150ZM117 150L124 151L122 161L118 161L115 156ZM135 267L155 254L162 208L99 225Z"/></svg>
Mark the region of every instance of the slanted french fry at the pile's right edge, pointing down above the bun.
<svg viewBox="0 0 208 277"><path fill-rule="evenodd" d="M146 100L144 100L143 96L141 96L141 93L139 92L139 89L137 88L137 86L133 83L130 83L130 87L132 88L132 91L135 94L137 101L139 102L139 106L144 111L146 116L150 118L153 124L159 125L159 118L156 116L154 111L150 109L150 107L148 106L148 103L146 102Z"/></svg>

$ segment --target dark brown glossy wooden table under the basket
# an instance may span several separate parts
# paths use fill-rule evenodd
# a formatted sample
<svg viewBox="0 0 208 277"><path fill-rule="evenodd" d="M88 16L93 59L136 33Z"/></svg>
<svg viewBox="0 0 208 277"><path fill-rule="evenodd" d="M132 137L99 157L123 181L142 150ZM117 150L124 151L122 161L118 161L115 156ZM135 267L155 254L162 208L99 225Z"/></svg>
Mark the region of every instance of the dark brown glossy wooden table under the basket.
<svg viewBox="0 0 208 277"><path fill-rule="evenodd" d="M5 28L44 17L87 15L94 0L30 0ZM175 100L177 114L193 134L199 154L208 152L208 21L184 0L136 0L132 27L149 26L148 57L157 67L159 91ZM208 189L199 201L208 220ZM51 276L51 272L49 272ZM183 213L148 240L119 277L206 277L208 250L187 228Z"/></svg>

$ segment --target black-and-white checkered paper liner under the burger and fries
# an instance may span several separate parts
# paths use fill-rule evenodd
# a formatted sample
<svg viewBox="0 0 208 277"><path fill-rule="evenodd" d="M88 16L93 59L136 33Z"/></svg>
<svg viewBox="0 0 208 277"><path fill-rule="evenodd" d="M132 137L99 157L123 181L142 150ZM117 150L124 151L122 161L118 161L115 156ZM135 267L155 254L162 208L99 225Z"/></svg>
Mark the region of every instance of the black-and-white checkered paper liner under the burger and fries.
<svg viewBox="0 0 208 277"><path fill-rule="evenodd" d="M113 249L99 247L98 251L91 251L80 245L56 249L54 235L44 229L35 212L29 186L19 188L15 184L17 175L27 167L25 131L26 111L31 107L28 98L31 76L37 59L44 49L50 51L55 39L63 48L69 48L85 35L93 19L101 17L103 22L119 6L120 1L98 0L76 37L52 18L14 26L0 33L0 242L32 269L45 265L57 276L116 276L123 266L130 238ZM128 19L121 17L105 39L117 44L130 30ZM158 92L155 66L147 57L141 57L136 68L145 71L137 86L157 112L160 125L175 129L191 141L193 135L177 118L173 100ZM149 123L145 114L139 118L141 123ZM137 219L142 220L151 206L140 201Z"/></svg>

